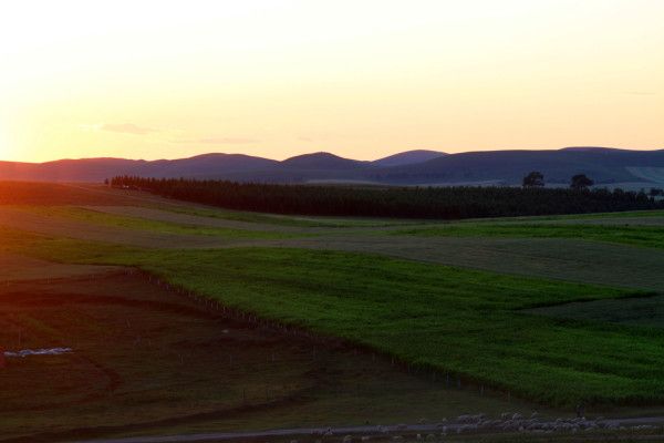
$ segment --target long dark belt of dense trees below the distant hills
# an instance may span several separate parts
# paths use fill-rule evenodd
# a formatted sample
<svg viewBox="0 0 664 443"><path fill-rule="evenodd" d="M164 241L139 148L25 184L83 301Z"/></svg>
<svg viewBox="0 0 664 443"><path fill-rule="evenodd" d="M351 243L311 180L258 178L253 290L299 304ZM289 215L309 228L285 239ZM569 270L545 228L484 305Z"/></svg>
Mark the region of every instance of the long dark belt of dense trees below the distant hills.
<svg viewBox="0 0 664 443"><path fill-rule="evenodd" d="M326 216L459 219L664 208L645 193L542 187L349 187L115 177L112 186L229 209Z"/></svg>

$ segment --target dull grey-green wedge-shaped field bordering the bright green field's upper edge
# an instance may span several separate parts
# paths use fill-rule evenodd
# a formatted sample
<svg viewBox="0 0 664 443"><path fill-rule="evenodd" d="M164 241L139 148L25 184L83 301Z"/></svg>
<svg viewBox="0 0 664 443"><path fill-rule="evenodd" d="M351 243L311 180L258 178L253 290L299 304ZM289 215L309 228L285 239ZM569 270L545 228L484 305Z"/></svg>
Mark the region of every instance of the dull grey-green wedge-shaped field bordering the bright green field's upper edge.
<svg viewBox="0 0 664 443"><path fill-rule="evenodd" d="M664 250L567 238L328 236L271 246L373 253L494 272L664 288Z"/></svg>

